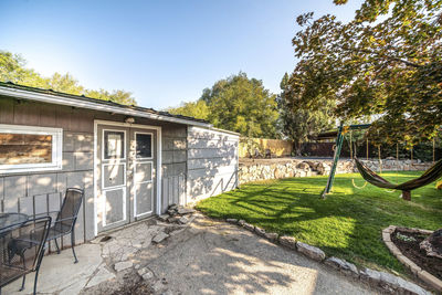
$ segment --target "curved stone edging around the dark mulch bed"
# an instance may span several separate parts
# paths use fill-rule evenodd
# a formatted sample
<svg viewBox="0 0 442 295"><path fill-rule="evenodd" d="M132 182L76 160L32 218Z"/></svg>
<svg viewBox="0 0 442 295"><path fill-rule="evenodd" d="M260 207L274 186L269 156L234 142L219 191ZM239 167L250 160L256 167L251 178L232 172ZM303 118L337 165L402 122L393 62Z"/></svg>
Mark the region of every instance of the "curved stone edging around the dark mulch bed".
<svg viewBox="0 0 442 295"><path fill-rule="evenodd" d="M400 226L390 225L382 230L382 240L387 247L407 268L409 268L417 277L435 288L438 292L442 292L442 281L430 274L429 272L422 270L419 265L408 259L402 252L394 245L391 241L391 234L397 230L402 229ZM432 231L421 230L421 229L407 229L407 231L422 234L431 234Z"/></svg>

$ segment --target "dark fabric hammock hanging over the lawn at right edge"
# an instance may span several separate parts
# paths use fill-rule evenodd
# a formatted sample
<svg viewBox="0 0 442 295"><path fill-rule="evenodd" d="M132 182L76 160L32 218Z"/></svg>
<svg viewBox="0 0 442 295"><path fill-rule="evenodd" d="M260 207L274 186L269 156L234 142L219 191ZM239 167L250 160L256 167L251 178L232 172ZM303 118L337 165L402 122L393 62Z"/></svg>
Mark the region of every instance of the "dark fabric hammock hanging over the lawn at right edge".
<svg viewBox="0 0 442 295"><path fill-rule="evenodd" d="M357 158L355 158L355 162L356 167L359 170L359 173L367 182L370 182L376 187L385 189L410 191L430 185L431 182L442 177L442 159L436 161L433 166L431 166L422 176L400 185L394 185L389 182L387 179L373 172L370 168L368 168Z"/></svg>

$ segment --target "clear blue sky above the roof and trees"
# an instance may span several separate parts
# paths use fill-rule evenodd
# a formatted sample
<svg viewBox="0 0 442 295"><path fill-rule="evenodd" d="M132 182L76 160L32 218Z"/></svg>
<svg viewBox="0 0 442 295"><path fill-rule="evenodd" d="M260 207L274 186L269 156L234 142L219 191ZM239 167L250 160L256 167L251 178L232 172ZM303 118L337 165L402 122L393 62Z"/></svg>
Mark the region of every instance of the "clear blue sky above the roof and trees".
<svg viewBox="0 0 442 295"><path fill-rule="evenodd" d="M157 109L196 101L240 71L280 91L296 60L296 15L354 17L360 0L0 0L0 50L49 76L88 88L123 88Z"/></svg>

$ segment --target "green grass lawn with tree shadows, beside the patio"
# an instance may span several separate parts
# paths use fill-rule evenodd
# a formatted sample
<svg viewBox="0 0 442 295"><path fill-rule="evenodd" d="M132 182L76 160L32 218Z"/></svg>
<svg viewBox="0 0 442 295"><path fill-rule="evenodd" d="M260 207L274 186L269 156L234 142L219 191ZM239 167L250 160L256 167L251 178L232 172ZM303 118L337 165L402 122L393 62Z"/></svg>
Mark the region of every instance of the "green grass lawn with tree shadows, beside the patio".
<svg viewBox="0 0 442 295"><path fill-rule="evenodd" d="M421 172L386 172L403 182ZM290 234L319 246L327 255L357 265L403 273L402 265L385 246L381 230L390 224L435 230L442 228L442 191L432 183L412 191L412 201L399 199L364 183L359 175L338 175L334 192L319 199L326 177L290 178L243 185L241 189L206 199L198 209L214 218L236 218L270 232Z"/></svg>

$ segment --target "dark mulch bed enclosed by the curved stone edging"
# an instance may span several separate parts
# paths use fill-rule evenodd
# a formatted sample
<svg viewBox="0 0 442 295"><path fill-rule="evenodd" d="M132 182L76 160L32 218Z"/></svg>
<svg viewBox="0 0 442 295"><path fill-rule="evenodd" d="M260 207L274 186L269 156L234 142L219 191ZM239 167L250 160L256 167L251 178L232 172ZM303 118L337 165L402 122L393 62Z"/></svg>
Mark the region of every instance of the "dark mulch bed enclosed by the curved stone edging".
<svg viewBox="0 0 442 295"><path fill-rule="evenodd" d="M415 241L403 241L397 238L398 232L402 235L414 238ZM391 234L391 241L402 252L402 255L418 264L422 270L431 273L435 277L442 280L442 260L438 257L427 256L425 251L419 247L428 235L397 229Z"/></svg>

